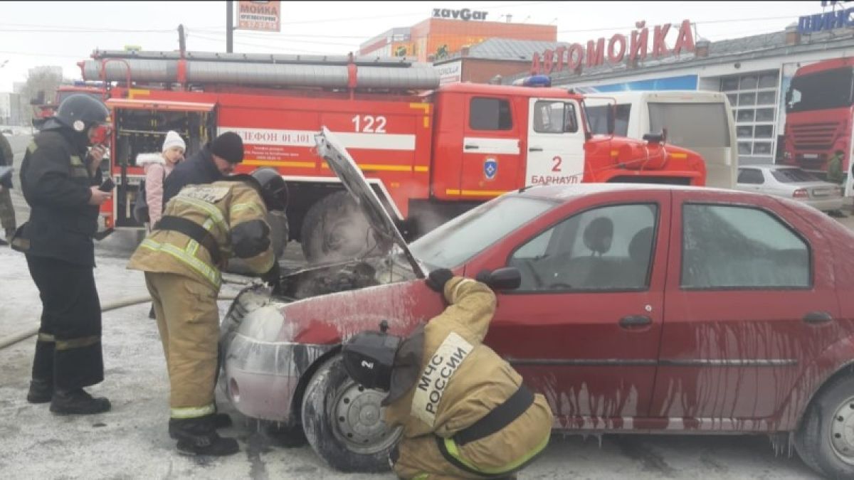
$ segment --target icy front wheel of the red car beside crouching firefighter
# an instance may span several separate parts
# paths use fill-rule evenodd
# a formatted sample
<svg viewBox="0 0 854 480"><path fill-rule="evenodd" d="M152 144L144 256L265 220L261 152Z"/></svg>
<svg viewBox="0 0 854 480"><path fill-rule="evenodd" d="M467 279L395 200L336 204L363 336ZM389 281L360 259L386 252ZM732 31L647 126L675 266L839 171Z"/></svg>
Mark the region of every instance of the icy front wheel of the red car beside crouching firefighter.
<svg viewBox="0 0 854 480"><path fill-rule="evenodd" d="M327 360L302 397L302 428L314 451L338 471L389 471L389 452L401 436L383 422L385 396L357 385L341 355Z"/></svg>

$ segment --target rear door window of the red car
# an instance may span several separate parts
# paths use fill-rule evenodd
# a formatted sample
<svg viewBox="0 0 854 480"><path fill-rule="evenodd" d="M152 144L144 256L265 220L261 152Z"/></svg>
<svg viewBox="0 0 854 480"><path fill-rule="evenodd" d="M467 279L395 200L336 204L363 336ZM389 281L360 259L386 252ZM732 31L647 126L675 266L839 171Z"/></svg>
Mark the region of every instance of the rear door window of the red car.
<svg viewBox="0 0 854 480"><path fill-rule="evenodd" d="M682 288L806 288L810 278L809 244L773 214L733 205L682 207Z"/></svg>

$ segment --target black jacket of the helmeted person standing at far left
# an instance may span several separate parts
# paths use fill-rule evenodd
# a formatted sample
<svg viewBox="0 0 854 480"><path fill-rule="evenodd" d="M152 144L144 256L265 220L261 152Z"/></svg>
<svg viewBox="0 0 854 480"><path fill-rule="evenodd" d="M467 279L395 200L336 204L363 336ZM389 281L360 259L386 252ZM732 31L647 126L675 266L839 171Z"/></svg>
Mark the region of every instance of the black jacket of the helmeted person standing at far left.
<svg viewBox="0 0 854 480"><path fill-rule="evenodd" d="M101 183L101 171L89 173L84 138L67 128L43 130L26 148L20 186L30 205L22 237L26 255L95 266L92 237L98 207L89 205L90 187Z"/></svg>

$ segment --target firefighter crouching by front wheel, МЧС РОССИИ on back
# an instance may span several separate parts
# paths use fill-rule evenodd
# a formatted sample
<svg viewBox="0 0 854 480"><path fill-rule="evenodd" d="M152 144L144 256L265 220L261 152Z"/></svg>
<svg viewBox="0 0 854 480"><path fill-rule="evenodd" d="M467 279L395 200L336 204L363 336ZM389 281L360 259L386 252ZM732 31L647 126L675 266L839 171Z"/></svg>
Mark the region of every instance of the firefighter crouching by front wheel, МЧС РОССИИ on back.
<svg viewBox="0 0 854 480"><path fill-rule="evenodd" d="M445 311L402 340L357 334L344 345L344 366L357 383L389 391L385 421L403 425L389 459L398 477L512 477L546 448L551 409L483 345L492 290L447 269L426 282L447 300Z"/></svg>

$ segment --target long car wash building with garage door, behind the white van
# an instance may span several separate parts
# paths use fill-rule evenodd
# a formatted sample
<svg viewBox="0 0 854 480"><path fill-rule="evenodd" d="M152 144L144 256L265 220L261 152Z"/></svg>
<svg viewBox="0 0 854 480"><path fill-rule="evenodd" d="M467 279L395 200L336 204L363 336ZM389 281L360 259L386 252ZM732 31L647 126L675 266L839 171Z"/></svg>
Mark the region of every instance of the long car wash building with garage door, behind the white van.
<svg viewBox="0 0 854 480"><path fill-rule="evenodd" d="M504 83L533 73L547 73L554 86L571 87L582 93L722 91L733 110L740 164L781 163L792 155L800 155L793 153L793 142L797 138L793 140L792 132L787 134L786 128L787 103L792 100L787 100L787 92L795 73L801 67L854 56L854 24L816 20L816 23L804 25L803 18L793 19L796 23L782 32L718 42L697 40L692 49L678 54L674 52L671 39L670 44L664 45L667 54L658 58L641 59L638 55L632 59L626 55L622 61L604 61L594 66L588 66L588 61L576 61L570 68L565 55L559 61L556 49L543 50L527 72L505 79ZM583 53L588 56L586 50ZM605 59L608 53L606 50ZM838 102L842 108L854 101L851 67L847 67L847 72L845 79L835 80L841 82L839 88L845 97ZM791 104L788 109L792 110ZM824 153L827 150L844 148L846 157L854 156L851 155L854 134L847 131L850 120L839 122L840 132L822 133L826 138L813 136L810 139L811 143L816 143L813 145L816 149L803 155L814 160L812 167L822 168L829 156ZM817 143L828 143L828 146L818 153ZM829 146L831 143L837 146Z"/></svg>

